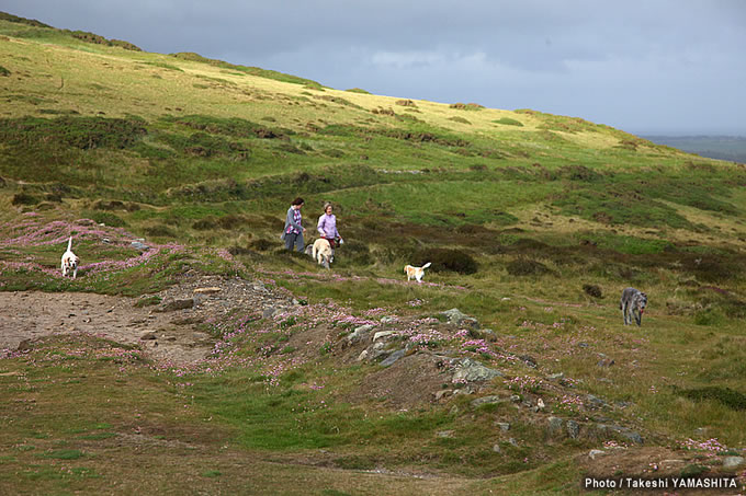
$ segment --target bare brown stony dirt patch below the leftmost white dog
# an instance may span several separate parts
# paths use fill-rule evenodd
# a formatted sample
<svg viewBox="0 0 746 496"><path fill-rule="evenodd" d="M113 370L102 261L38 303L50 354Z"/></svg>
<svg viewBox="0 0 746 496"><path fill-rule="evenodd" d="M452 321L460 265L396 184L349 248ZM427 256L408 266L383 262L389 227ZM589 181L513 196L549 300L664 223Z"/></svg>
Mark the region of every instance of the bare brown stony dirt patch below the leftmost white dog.
<svg viewBox="0 0 746 496"><path fill-rule="evenodd" d="M274 312L293 305L261 282L195 278L157 295L161 303L138 308L138 299L94 293L0 293L0 350L15 350L57 333L90 333L138 344L156 359L176 365L206 357L214 339L200 325L236 308Z"/></svg>

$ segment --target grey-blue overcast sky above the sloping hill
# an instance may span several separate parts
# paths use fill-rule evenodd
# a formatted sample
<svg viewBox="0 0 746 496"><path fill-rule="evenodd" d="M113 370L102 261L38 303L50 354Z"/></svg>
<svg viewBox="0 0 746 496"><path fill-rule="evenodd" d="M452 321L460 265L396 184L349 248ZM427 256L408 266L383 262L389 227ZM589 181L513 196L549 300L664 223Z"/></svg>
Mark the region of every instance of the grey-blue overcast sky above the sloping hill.
<svg viewBox="0 0 746 496"><path fill-rule="evenodd" d="M347 90L746 136L746 0L0 0L0 11Z"/></svg>

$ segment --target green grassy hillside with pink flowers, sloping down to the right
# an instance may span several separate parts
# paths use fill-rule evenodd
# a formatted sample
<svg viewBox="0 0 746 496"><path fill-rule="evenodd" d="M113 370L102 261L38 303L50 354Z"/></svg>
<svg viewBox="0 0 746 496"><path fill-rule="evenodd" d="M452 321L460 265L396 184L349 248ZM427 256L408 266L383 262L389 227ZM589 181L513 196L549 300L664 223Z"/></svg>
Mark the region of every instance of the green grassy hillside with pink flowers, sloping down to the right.
<svg viewBox="0 0 746 496"><path fill-rule="evenodd" d="M272 321L236 303L203 323L245 358L221 372L161 369L83 337L7 351L0 487L178 491L190 477L235 494L251 493L248 473L267 494L297 480L312 494L572 494L587 471L578 457L595 448L686 447L707 466L692 470L743 453L743 165L578 117L336 90L11 15L0 15L0 102L1 290L140 297L199 273L263 280L306 309ZM331 274L282 250L295 196L309 228L336 205L346 243ZM69 235L75 281L58 274ZM136 239L154 250L138 255ZM428 284L405 284L402 267L425 262ZM648 295L642 327L622 325L628 286ZM355 325L393 314L440 328L454 307L479 328L428 334L408 356L470 356L502 378L406 408L391 392L353 394L383 373L342 359ZM314 313L325 308L343 312ZM264 358L292 359L312 331L326 335L313 360L268 379ZM78 393L115 401L115 414L80 408ZM471 403L516 393L529 406ZM36 416L23 420L30 399ZM128 402L147 420L127 417ZM550 414L615 423L645 443L553 436ZM147 454L154 477L132 482L137 450L91 440L140 424L163 442ZM185 439L204 448L190 455Z"/></svg>

